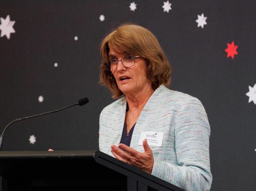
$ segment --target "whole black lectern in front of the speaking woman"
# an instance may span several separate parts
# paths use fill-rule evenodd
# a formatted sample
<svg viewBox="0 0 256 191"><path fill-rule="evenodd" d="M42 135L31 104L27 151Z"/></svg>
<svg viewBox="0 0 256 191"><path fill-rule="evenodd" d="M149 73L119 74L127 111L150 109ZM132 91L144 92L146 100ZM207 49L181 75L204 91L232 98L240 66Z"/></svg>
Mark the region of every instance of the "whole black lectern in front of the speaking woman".
<svg viewBox="0 0 256 191"><path fill-rule="evenodd" d="M100 151L1 151L0 176L2 191L183 191Z"/></svg>

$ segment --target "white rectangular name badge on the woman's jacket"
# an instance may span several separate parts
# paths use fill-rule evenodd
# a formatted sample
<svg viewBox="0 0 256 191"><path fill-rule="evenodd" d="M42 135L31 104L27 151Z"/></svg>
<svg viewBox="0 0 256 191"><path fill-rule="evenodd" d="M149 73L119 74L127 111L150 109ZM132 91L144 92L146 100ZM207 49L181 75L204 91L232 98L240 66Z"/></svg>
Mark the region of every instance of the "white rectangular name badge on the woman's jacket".
<svg viewBox="0 0 256 191"><path fill-rule="evenodd" d="M161 147L163 142L163 132L143 131L139 138L139 145L142 145L144 139L147 139L149 146Z"/></svg>

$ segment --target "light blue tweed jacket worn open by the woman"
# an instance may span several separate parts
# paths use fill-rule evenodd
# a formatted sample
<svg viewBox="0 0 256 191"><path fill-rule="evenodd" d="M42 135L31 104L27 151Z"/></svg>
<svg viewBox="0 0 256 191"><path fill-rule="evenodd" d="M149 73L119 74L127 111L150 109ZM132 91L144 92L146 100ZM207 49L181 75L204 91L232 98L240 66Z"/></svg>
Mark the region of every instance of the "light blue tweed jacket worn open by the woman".
<svg viewBox="0 0 256 191"><path fill-rule="evenodd" d="M125 114L125 97L102 110L100 151L113 156L110 146L120 143ZM152 175L186 191L210 190L210 125L200 100L160 85L134 127L130 147L139 152L144 152L138 145L142 131L164 132L162 146L150 146L154 154Z"/></svg>

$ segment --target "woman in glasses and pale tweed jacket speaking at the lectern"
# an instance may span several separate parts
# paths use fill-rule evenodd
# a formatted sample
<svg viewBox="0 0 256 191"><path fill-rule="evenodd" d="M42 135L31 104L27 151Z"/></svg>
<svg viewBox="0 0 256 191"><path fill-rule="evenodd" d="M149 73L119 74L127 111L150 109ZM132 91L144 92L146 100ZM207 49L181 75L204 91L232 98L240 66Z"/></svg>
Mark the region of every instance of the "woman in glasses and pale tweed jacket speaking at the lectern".
<svg viewBox="0 0 256 191"><path fill-rule="evenodd" d="M210 190L206 111L197 98L167 88L171 66L156 37L123 24L100 51L101 82L119 98L100 114L100 151L187 191Z"/></svg>

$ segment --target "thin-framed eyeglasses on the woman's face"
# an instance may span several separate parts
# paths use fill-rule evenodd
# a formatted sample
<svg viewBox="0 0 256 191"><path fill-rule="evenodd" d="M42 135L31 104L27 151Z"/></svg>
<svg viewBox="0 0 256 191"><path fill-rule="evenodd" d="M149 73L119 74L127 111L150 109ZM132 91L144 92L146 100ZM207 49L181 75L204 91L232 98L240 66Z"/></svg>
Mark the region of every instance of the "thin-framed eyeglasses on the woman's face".
<svg viewBox="0 0 256 191"><path fill-rule="evenodd" d="M105 68L107 71L114 71L117 69L117 64L119 61L121 61L122 65L124 67L132 67L135 64L135 59L141 57L141 56L131 56L131 55L125 55L121 58L121 60L117 60L117 58L111 58L109 59L109 63L105 64Z"/></svg>

